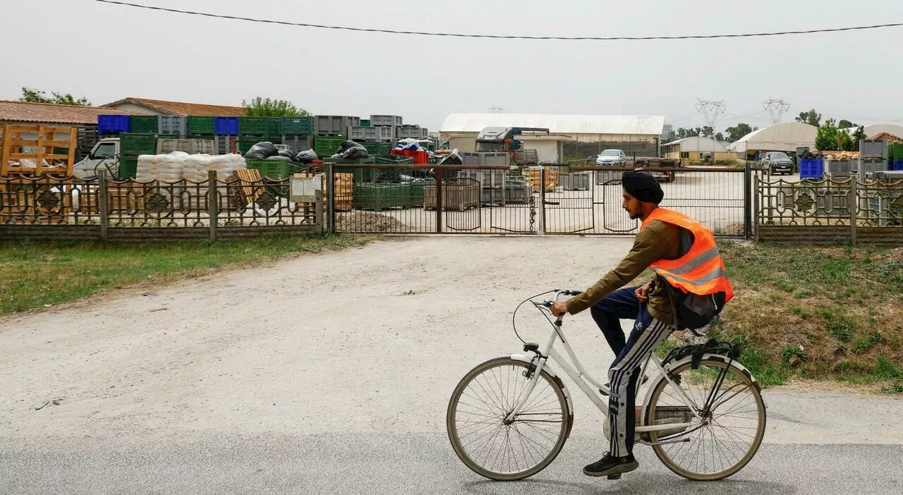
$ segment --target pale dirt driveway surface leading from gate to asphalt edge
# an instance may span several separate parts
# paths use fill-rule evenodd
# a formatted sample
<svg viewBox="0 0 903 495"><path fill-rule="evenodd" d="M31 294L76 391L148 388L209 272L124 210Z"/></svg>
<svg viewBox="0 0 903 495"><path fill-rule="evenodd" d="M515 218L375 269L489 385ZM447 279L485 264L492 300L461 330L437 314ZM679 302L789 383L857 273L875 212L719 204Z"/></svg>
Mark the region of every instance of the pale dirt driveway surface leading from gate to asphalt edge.
<svg viewBox="0 0 903 495"><path fill-rule="evenodd" d="M5 318L0 438L441 432L466 370L518 350L514 307L556 286L585 288L630 243L387 239ZM539 341L547 323L531 312L518 313L518 327ZM565 329L591 374L604 376L612 356L589 314ZM855 408L841 408L824 392L767 398L767 441L903 442L894 413L903 401L855 397ZM574 430L600 432L591 403L580 396L575 406Z"/></svg>

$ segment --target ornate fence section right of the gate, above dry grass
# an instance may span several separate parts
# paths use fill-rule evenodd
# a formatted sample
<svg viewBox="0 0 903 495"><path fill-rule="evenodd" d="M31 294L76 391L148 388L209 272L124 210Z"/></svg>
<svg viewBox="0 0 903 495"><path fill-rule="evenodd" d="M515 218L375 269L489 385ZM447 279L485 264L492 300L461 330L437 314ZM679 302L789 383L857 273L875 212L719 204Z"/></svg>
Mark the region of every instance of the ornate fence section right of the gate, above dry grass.
<svg viewBox="0 0 903 495"><path fill-rule="evenodd" d="M903 181L757 182L756 238L811 244L903 244Z"/></svg>

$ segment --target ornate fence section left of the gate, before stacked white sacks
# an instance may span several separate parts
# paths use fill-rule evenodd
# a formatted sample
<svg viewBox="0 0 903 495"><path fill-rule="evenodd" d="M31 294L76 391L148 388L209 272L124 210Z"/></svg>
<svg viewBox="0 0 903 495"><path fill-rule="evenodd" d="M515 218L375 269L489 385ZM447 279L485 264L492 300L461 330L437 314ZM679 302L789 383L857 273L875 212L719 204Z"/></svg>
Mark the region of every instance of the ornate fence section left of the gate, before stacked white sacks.
<svg viewBox="0 0 903 495"><path fill-rule="evenodd" d="M296 202L293 179L112 181L0 177L0 238L168 241L319 232L321 196Z"/></svg>

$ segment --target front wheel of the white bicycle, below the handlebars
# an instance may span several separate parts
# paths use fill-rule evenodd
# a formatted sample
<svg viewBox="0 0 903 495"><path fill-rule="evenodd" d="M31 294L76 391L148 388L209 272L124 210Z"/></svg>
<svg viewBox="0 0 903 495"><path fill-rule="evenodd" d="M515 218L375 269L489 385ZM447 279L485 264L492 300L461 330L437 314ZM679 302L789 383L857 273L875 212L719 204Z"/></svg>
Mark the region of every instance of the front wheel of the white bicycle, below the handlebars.
<svg viewBox="0 0 903 495"><path fill-rule="evenodd" d="M523 480L561 452L571 425L562 387L545 371L511 422L505 417L526 393L529 364L510 358L486 361L461 379L449 401L445 425L454 452L490 480Z"/></svg>

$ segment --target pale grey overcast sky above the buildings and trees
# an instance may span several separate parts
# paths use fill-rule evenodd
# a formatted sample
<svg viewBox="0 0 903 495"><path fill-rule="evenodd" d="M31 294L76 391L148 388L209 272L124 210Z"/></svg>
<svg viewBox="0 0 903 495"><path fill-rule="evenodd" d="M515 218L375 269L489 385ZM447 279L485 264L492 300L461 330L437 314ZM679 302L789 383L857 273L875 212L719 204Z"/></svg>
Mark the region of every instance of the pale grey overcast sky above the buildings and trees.
<svg viewBox="0 0 903 495"><path fill-rule="evenodd" d="M903 22L899 0L131 0L218 14L416 31L525 35L749 33ZM39 6L40 5L40 6ZM23 86L96 105L144 97L238 105L284 98L315 114L393 114L438 130L450 113L663 115L767 126L817 108L861 124L903 122L903 28L769 38L564 42L352 33L106 5L0 0L0 98ZM22 22L8 22L21 19Z"/></svg>

